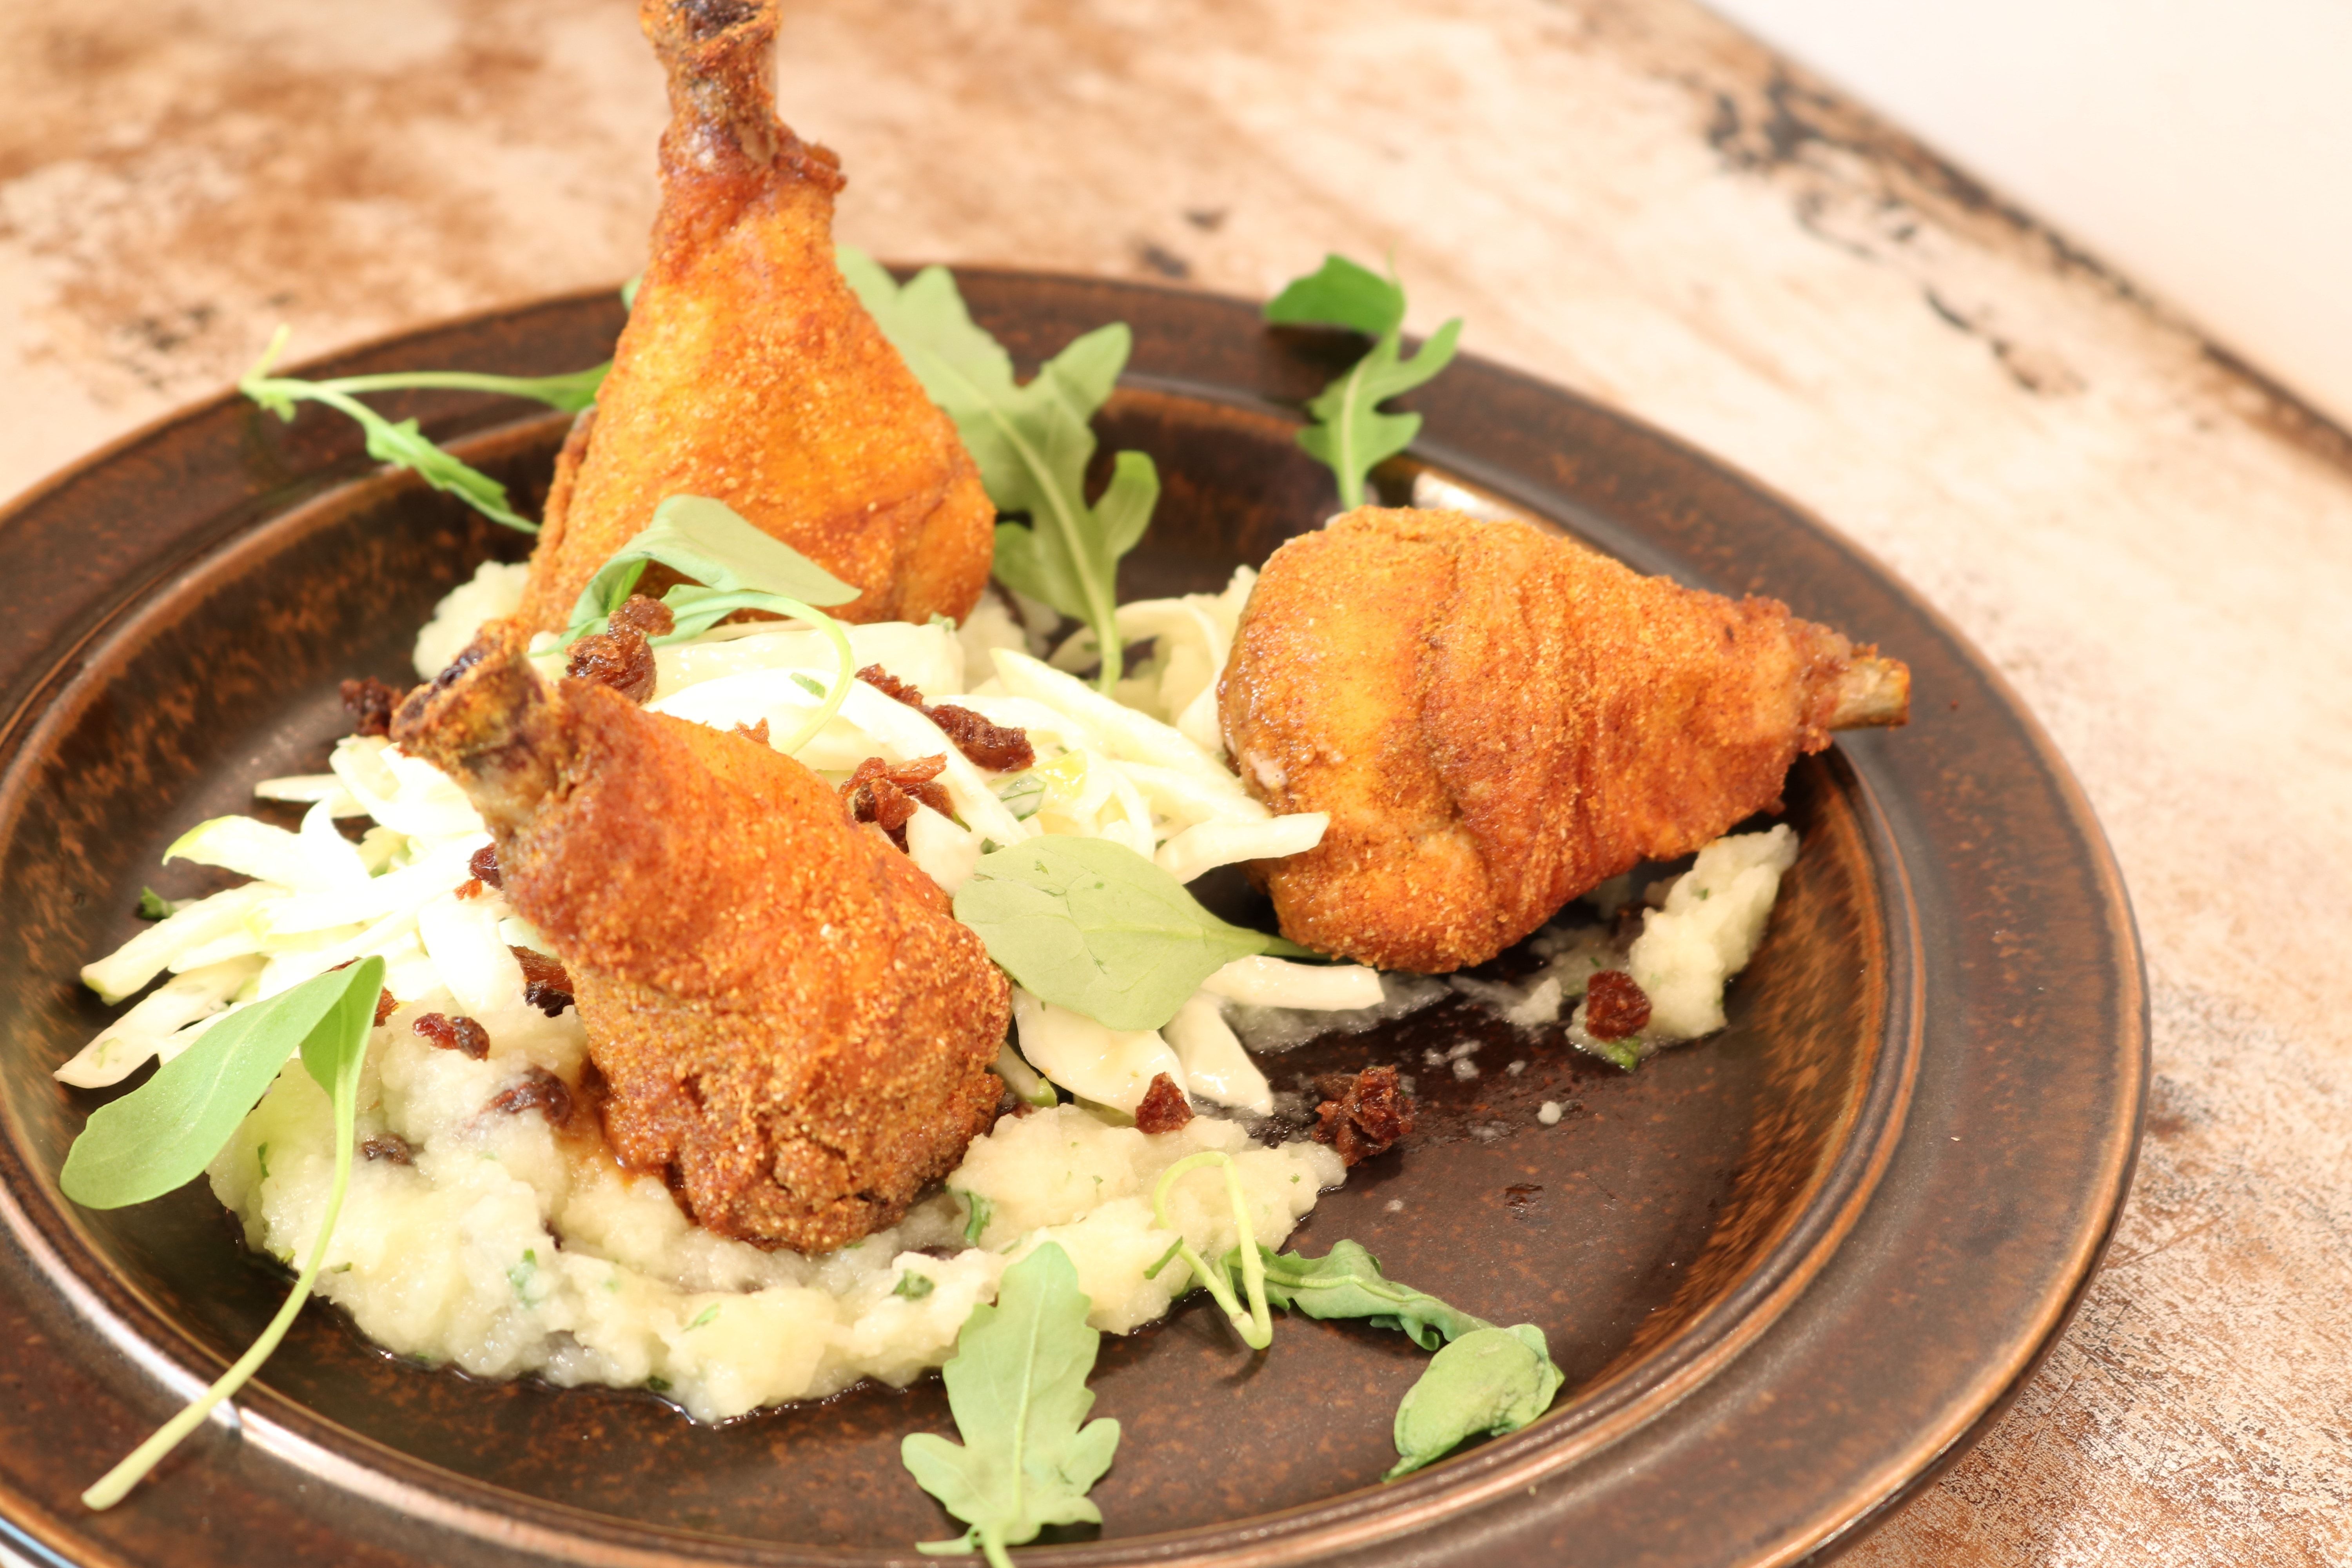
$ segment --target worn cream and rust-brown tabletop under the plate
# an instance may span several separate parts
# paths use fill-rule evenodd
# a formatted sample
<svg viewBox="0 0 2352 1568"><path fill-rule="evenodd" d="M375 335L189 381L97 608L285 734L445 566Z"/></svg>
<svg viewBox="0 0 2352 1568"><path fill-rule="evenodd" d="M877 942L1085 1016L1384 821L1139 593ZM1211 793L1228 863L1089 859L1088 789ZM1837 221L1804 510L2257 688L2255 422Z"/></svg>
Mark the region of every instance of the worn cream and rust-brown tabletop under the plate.
<svg viewBox="0 0 2352 1568"><path fill-rule="evenodd" d="M0 5L0 494L310 355L619 280L661 82L623 0ZM2154 1103L2016 1410L1846 1561L2352 1561L2352 442L1686 0L807 0L842 237L1414 324L1788 491L2082 776ZM2051 1041L2063 1051L2065 1041Z"/></svg>

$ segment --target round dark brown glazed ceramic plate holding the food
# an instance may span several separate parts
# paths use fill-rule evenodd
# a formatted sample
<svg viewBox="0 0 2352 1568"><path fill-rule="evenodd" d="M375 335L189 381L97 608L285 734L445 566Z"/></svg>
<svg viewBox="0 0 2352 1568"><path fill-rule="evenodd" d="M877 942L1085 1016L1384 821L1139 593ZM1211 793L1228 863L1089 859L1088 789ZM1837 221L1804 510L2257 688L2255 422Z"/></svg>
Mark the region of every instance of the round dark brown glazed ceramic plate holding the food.
<svg viewBox="0 0 2352 1568"><path fill-rule="evenodd" d="M1167 496L1124 592L1221 585L1329 510L1289 440L1343 346L1251 306L964 273L1025 362L1127 320L1105 444ZM590 364L621 315L562 299L346 355L334 371ZM1769 592L1915 675L1910 729L1790 778L1804 858L1731 1027L1618 1074L1477 1013L1308 1046L1277 1074L1404 1060L1430 1105L1298 1237L1550 1335L1569 1387L1526 1432L1381 1486L1421 1354L1287 1319L1265 1356L1214 1312L1105 1340L1124 1441L1105 1526L1040 1563L1788 1563L1851 1540L1959 1453L2049 1349L2131 1178L2145 987L2091 811L1985 661L1884 569L1677 442L1463 360L1390 494L1428 465L1646 571ZM409 409L536 501L557 416ZM506 423L499 423L506 421ZM132 931L181 825L320 766L346 675L402 679L433 599L524 541L376 473L327 414L221 397L0 515L0 1519L75 1563L873 1563L953 1533L896 1462L948 1429L936 1380L691 1427L649 1394L400 1366L313 1307L129 1505L78 1490L216 1375L285 1284L202 1182L120 1213L56 1194L96 1095L49 1070L106 1018L75 969ZM1498 672L1508 679L1508 672ZM1418 1067L1484 1032L1482 1077ZM1508 1063L1524 1063L1510 1074ZM1541 1126L1562 1100L1559 1126Z"/></svg>

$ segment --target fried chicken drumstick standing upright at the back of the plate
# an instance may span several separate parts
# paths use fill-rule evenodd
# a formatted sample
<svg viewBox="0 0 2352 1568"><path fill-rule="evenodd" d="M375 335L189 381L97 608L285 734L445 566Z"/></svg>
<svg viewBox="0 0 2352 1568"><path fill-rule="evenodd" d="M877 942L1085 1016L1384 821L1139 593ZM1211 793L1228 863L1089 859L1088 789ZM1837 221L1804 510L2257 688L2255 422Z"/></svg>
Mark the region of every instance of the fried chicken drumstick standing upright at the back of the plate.
<svg viewBox="0 0 2352 1568"><path fill-rule="evenodd" d="M555 463L522 621L557 630L666 496L713 496L863 592L962 618L995 508L833 263L830 150L776 120L776 0L642 0L670 73L661 214L597 402Z"/></svg>

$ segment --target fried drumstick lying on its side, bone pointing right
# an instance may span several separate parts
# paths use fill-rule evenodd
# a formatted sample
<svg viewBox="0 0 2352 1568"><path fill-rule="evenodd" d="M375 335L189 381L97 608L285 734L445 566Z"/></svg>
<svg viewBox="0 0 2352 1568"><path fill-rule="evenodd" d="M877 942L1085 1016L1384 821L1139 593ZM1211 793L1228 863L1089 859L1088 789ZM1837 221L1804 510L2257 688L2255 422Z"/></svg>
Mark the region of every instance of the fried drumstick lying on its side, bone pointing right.
<svg viewBox="0 0 2352 1568"><path fill-rule="evenodd" d="M1265 562L1218 686L1249 792L1331 813L1322 844L1254 867L1282 933L1423 973L1776 809L1799 752L1907 705L1905 665L1773 599L1378 508Z"/></svg>

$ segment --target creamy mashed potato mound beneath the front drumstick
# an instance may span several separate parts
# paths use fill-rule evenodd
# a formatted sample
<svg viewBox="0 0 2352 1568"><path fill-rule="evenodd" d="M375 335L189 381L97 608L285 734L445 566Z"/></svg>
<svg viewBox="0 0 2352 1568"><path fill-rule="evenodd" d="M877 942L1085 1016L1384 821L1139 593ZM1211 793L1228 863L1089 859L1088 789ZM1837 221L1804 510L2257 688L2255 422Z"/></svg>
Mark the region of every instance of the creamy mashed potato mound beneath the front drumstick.
<svg viewBox="0 0 2352 1568"><path fill-rule="evenodd" d="M1195 1117L1145 1135L1063 1105L1007 1117L894 1229L821 1258L767 1253L696 1229L668 1190L621 1171L595 1114L564 1128L492 1103L532 1070L576 1088L579 1013L508 1013L487 1060L412 1030L447 994L376 1030L360 1088L350 1194L318 1291L386 1349L482 1378L649 1387L696 1420L823 1399L861 1378L906 1385L955 1352L971 1307L1042 1241L1058 1241L1094 1302L1127 1333L1192 1281L1183 1262L1145 1279L1176 1234L1152 1225L1160 1173L1202 1150L1235 1157L1256 1239L1279 1246L1341 1164L1315 1143L1251 1145ZM212 1190L254 1248L292 1260L318 1237L334 1178L327 1095L289 1065L212 1164ZM1169 1220L1202 1255L1235 1246L1218 1171L1195 1171ZM967 1241L978 1239L978 1246Z"/></svg>

